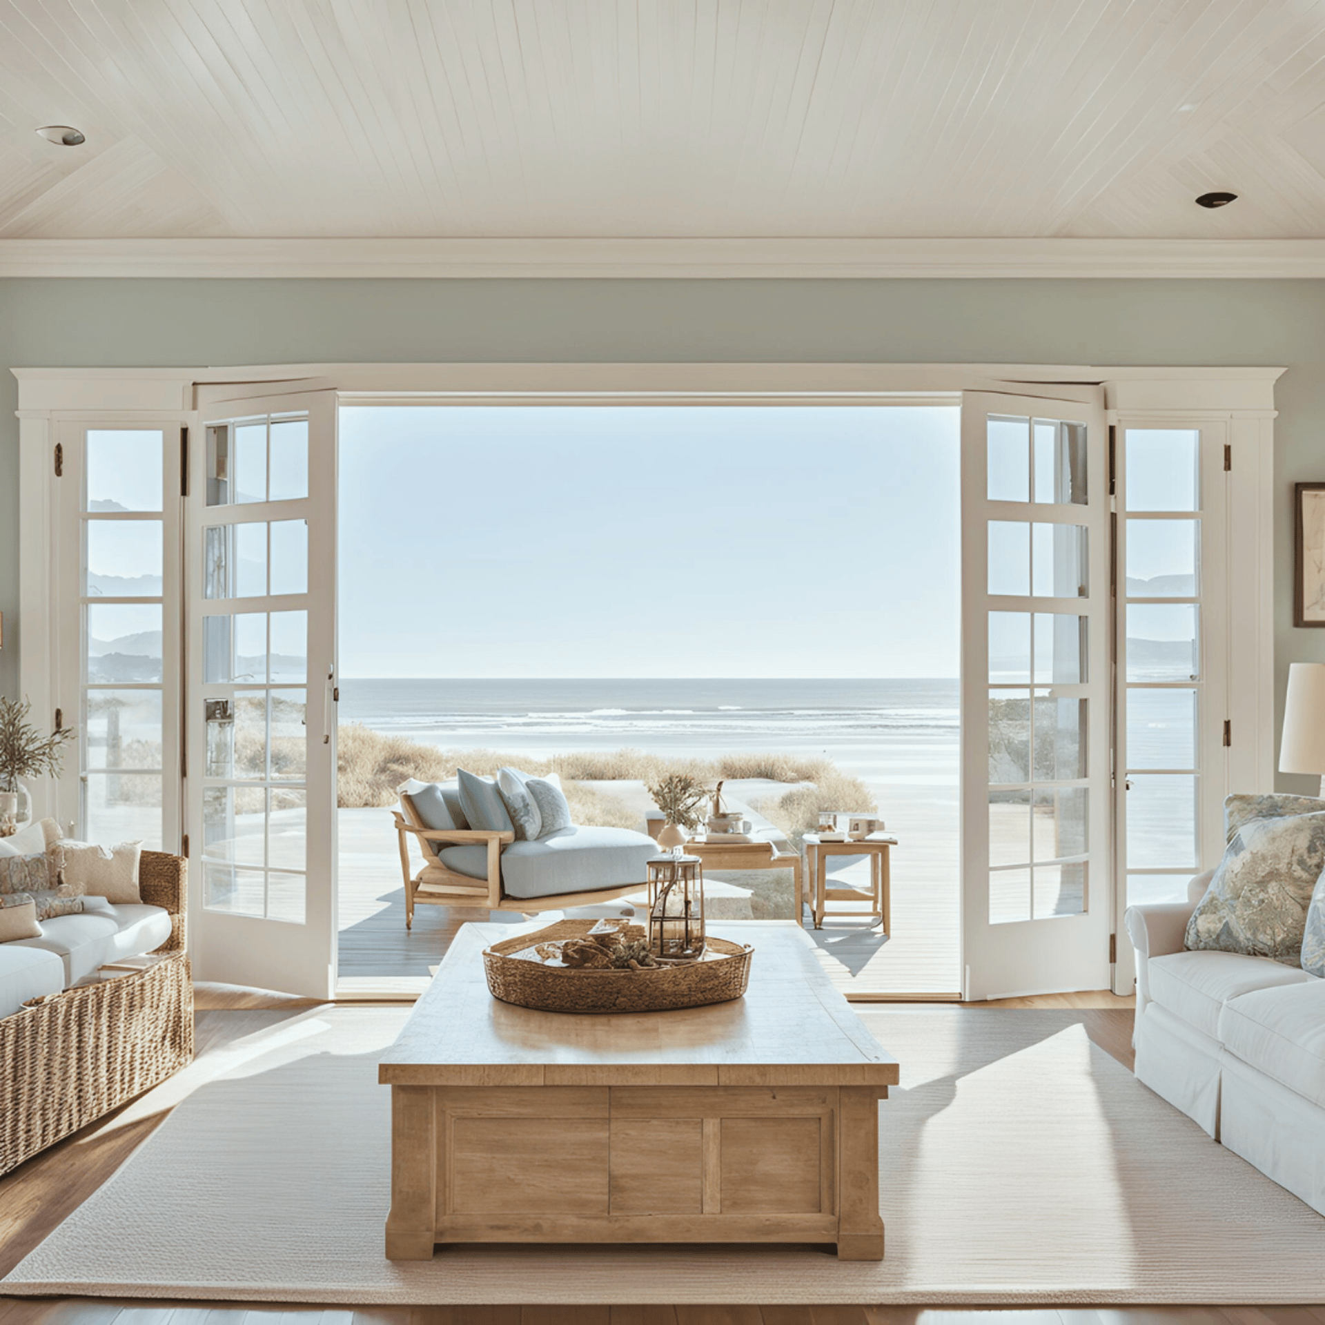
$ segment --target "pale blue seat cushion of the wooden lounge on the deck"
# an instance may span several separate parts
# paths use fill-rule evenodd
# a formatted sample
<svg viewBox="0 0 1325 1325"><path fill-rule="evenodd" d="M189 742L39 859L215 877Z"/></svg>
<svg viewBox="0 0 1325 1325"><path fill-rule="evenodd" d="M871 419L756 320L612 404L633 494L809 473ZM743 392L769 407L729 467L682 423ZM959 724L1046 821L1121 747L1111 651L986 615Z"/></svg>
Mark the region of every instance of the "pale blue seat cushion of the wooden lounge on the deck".
<svg viewBox="0 0 1325 1325"><path fill-rule="evenodd" d="M501 853L502 888L511 897L590 893L648 880L645 861L659 844L629 828L562 828L538 841L513 841ZM448 847L441 863L457 874L484 878L485 847Z"/></svg>

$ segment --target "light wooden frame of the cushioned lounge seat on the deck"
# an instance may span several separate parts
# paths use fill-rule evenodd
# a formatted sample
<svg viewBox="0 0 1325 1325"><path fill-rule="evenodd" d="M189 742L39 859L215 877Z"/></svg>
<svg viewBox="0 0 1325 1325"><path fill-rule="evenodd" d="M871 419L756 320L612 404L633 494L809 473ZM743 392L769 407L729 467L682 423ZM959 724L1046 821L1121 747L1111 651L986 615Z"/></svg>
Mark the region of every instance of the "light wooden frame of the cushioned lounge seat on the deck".
<svg viewBox="0 0 1325 1325"><path fill-rule="evenodd" d="M643 882L619 884L615 888L598 888L584 893L556 893L550 897L511 897L501 885L501 853L515 840L513 832L497 832L486 828L425 828L415 812L408 796L400 798L405 814L394 811L396 820L396 840L400 845L400 869L405 881L405 929L413 929L413 909L416 905L429 906L476 906L480 910L519 912L537 916L545 910L564 910L567 906L590 906L595 902L610 902L628 893L644 892ZM409 837L419 840L423 852L423 868L413 873L409 868ZM458 845L485 845L488 848L488 868L484 878L457 874L448 869L432 849L432 843Z"/></svg>

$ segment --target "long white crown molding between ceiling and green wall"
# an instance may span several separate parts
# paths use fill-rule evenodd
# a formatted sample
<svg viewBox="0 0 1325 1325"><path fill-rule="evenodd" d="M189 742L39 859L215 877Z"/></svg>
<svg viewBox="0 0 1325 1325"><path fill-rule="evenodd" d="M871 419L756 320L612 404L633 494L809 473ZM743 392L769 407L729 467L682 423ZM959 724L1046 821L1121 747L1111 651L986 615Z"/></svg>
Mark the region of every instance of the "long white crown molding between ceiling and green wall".
<svg viewBox="0 0 1325 1325"><path fill-rule="evenodd" d="M1322 280L1321 240L0 240L0 277Z"/></svg>

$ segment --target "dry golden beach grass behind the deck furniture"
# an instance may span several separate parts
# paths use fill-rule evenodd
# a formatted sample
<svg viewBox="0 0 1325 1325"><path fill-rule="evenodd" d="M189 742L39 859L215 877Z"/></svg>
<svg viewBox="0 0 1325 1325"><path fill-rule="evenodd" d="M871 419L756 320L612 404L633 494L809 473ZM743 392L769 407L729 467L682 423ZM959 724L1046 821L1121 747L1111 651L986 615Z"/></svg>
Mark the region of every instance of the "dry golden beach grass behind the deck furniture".
<svg viewBox="0 0 1325 1325"><path fill-rule="evenodd" d="M709 783L761 779L788 783L780 796L757 808L790 837L799 839L819 823L822 810L872 814L874 798L860 778L841 772L829 759L790 754L727 754L717 759L668 758L644 750L582 750L531 759L500 750L444 750L405 737L387 735L363 723L342 726L337 734L337 804L342 810L384 808L396 803L396 788L409 778L447 782L457 768L493 776L517 767L535 776L555 772L562 779L571 816L578 824L639 827L639 815L615 796L586 782L656 783L672 772L688 772Z"/></svg>

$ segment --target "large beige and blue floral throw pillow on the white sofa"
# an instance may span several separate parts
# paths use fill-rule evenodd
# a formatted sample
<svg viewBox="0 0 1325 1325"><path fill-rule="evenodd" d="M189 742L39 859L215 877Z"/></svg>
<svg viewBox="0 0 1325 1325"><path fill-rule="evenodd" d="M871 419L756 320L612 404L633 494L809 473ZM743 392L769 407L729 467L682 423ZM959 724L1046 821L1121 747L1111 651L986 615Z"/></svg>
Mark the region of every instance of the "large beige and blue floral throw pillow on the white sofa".
<svg viewBox="0 0 1325 1325"><path fill-rule="evenodd" d="M1325 868L1325 812L1244 823L1187 921L1189 949L1301 965L1306 908Z"/></svg>

